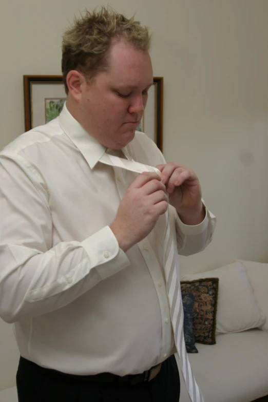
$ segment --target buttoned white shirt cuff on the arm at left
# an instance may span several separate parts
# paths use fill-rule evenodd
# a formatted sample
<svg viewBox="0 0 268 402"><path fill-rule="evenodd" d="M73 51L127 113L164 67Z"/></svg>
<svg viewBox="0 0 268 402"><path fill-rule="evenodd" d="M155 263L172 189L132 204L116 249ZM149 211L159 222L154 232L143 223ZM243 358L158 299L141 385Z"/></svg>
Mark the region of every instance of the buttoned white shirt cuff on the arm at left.
<svg viewBox="0 0 268 402"><path fill-rule="evenodd" d="M82 241L82 246L102 279L123 270L130 265L126 254L119 248L116 236L109 226Z"/></svg>

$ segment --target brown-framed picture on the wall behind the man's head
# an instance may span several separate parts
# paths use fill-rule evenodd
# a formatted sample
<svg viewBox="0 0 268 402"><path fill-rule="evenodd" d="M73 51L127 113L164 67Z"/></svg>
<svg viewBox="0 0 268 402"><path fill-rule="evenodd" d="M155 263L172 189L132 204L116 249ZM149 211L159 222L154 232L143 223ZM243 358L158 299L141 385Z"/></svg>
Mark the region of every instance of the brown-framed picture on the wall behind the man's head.
<svg viewBox="0 0 268 402"><path fill-rule="evenodd" d="M59 116L66 100L62 75L24 75L25 130L48 123ZM162 151L163 77L154 77L138 131L143 131Z"/></svg>

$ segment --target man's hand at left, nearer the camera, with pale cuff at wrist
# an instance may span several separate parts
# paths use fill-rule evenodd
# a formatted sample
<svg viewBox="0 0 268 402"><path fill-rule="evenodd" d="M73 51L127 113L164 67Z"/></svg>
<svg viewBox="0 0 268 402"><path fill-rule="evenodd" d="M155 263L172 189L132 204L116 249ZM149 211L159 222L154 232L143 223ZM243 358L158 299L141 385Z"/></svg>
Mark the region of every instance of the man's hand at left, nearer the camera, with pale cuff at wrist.
<svg viewBox="0 0 268 402"><path fill-rule="evenodd" d="M157 173L142 173L128 187L110 226L124 252L144 239L166 212L165 192Z"/></svg>

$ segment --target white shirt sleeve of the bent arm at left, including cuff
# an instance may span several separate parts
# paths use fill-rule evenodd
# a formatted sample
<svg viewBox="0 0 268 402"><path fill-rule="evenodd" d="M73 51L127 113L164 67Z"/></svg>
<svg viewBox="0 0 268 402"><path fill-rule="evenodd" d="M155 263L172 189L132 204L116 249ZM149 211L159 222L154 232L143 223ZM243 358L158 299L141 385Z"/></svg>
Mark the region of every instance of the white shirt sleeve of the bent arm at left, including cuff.
<svg viewBox="0 0 268 402"><path fill-rule="evenodd" d="M60 309L129 265L109 226L52 244L49 191L20 156L0 156L0 316L15 322Z"/></svg>

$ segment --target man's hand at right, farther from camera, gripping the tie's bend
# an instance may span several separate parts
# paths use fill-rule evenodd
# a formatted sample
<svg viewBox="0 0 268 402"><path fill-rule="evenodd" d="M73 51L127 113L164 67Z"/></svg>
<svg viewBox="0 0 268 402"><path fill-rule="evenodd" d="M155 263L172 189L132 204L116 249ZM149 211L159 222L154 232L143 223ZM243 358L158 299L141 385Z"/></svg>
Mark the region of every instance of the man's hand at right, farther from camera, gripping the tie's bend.
<svg viewBox="0 0 268 402"><path fill-rule="evenodd" d="M161 181L169 194L169 204L173 205L183 223L197 225L205 217L201 201L201 186L193 170L176 162L158 165Z"/></svg>

